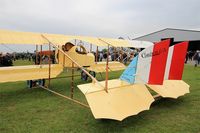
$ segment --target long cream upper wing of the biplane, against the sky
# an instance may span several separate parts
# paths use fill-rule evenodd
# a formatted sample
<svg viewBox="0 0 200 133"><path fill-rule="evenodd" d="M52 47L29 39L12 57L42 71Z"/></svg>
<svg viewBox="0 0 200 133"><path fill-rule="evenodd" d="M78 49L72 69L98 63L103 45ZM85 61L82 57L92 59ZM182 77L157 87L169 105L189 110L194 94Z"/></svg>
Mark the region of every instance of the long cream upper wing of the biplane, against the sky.
<svg viewBox="0 0 200 133"><path fill-rule="evenodd" d="M0 30L0 43L1 44L48 44L48 41L43 36L48 38L52 43L56 45L64 45L66 42L72 40L81 40L97 46L110 46L113 47L135 47L145 48L149 45L153 45L151 42L145 41L130 41L122 39L111 38L98 38L98 37L86 37L86 36L69 36L62 34L47 34L47 33L34 33L34 32L18 32L9 30Z"/></svg>

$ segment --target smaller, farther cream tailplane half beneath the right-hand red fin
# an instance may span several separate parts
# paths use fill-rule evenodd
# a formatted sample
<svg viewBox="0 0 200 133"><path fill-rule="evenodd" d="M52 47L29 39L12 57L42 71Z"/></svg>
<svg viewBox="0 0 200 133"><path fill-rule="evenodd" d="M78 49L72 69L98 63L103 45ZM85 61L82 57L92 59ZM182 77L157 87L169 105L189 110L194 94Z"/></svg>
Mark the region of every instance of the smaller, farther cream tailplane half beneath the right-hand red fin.
<svg viewBox="0 0 200 133"><path fill-rule="evenodd" d="M178 98L189 93L189 85L183 80L165 80L163 85L148 85L162 97Z"/></svg>

